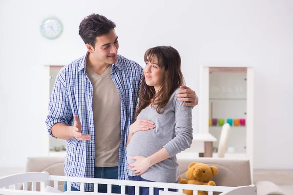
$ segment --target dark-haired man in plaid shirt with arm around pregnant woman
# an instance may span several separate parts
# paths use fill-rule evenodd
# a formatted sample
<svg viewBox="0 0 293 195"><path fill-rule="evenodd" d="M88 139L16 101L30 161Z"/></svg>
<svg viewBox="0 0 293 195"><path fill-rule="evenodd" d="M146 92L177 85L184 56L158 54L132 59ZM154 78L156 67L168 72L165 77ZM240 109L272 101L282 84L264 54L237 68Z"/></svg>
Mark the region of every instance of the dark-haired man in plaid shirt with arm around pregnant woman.
<svg viewBox="0 0 293 195"><path fill-rule="evenodd" d="M63 67L56 78L46 119L52 137L66 139L65 176L128 179L126 141L133 121L143 68L117 54L115 23L92 14L80 23L87 54ZM186 106L197 105L194 91L180 91ZM153 128L146 120L141 127ZM67 183L64 183L66 190ZM71 183L79 190L80 183ZM92 184L85 184L92 191ZM112 193L120 194L119 186ZM105 185L99 186L105 193Z"/></svg>

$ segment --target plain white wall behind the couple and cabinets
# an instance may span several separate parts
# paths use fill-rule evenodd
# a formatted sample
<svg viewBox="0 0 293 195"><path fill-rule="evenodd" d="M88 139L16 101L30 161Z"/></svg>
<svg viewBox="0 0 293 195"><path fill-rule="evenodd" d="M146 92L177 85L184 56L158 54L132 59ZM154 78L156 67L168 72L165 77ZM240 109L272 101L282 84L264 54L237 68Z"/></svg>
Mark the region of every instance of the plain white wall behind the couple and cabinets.
<svg viewBox="0 0 293 195"><path fill-rule="evenodd" d="M42 155L43 65L83 56L79 23L100 13L117 24L120 54L141 65L147 48L174 46L195 91L201 64L254 66L254 167L293 169L292 10L291 0L0 0L0 167ZM63 22L59 39L41 36L48 16Z"/></svg>

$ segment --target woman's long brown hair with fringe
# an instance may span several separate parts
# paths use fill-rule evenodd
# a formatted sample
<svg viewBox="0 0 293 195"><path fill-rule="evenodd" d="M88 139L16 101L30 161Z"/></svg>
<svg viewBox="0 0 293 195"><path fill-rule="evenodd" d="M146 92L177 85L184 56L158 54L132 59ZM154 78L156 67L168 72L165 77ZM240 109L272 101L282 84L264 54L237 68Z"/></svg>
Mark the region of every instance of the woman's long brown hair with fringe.
<svg viewBox="0 0 293 195"><path fill-rule="evenodd" d="M139 113L150 105L154 107L159 114L164 113L164 107L169 101L172 93L184 84L184 78L181 72L181 58L176 49L171 46L157 46L146 50L145 62L153 62L154 57L158 59L160 68L166 71L166 77L163 85L156 94L153 86L146 84L145 76L142 79L142 85L139 91L139 102L135 113L135 119ZM152 102L152 100L155 100Z"/></svg>

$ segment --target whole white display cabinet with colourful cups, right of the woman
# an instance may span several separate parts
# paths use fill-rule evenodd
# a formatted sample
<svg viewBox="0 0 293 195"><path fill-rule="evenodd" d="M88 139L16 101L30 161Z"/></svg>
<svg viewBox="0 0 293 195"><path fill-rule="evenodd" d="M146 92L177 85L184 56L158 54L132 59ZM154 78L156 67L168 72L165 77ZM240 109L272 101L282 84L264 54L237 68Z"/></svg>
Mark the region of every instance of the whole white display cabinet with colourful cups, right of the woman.
<svg viewBox="0 0 293 195"><path fill-rule="evenodd" d="M217 138L222 125L230 123L231 131L225 158L247 158L253 163L253 68L201 67L199 93L199 132Z"/></svg>

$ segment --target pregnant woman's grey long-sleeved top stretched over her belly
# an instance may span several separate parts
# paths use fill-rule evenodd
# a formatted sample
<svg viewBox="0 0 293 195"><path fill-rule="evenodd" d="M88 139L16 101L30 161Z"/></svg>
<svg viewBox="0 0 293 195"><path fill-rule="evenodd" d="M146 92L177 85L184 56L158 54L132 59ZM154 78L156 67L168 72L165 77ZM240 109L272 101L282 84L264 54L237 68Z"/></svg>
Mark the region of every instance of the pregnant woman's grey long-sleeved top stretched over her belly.
<svg viewBox="0 0 293 195"><path fill-rule="evenodd" d="M176 154L190 147L192 142L192 108L183 106L177 98L176 89L164 108L164 114L157 113L153 107L146 107L137 119L147 119L156 127L148 131L136 132L126 147L128 164L135 160L129 156L151 156L163 147L169 158L150 167L142 178L155 182L175 183L179 177ZM137 176L129 170L129 176Z"/></svg>

